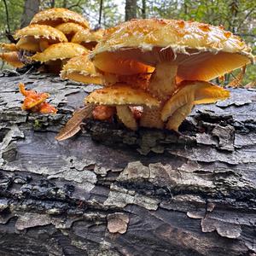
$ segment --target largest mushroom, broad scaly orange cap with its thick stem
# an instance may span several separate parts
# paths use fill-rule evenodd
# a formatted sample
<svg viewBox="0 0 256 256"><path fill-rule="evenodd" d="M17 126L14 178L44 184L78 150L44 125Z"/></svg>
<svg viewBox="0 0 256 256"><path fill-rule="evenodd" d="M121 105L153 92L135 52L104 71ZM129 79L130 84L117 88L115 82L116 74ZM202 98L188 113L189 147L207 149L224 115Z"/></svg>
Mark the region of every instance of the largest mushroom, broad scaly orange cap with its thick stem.
<svg viewBox="0 0 256 256"><path fill-rule="evenodd" d="M223 28L194 21L157 19L131 20L108 29L92 58L103 76L125 75L133 70L131 63L154 67L147 90L160 100L160 108L143 108L140 125L157 128L165 125L161 110L172 99L178 82L208 81L253 61L247 44ZM186 103L189 106L177 112L180 117L193 107Z"/></svg>

